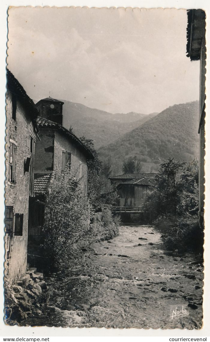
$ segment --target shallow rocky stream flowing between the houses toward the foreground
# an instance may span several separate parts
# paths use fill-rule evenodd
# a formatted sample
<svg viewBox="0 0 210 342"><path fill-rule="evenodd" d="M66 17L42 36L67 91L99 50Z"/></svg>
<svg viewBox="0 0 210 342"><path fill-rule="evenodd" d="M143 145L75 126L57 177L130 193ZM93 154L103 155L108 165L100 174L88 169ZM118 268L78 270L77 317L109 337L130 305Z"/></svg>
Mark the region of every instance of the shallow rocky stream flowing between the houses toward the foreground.
<svg viewBox="0 0 210 342"><path fill-rule="evenodd" d="M65 280L49 279L50 305L28 325L201 328L203 268L192 255L169 255L148 226L122 226L92 247Z"/></svg>

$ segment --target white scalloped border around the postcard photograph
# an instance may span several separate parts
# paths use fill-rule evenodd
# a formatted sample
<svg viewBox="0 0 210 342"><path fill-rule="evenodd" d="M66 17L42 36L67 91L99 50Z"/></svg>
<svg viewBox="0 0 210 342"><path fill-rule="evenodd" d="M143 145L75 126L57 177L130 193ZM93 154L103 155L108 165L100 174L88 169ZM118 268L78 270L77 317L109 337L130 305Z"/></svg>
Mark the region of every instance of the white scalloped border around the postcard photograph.
<svg viewBox="0 0 210 342"><path fill-rule="evenodd" d="M209 44L210 42L210 1L209 0L1 0L0 3L0 104L1 104L1 115L0 115L0 226L1 226L1 262L0 262L0 336L4 337L55 337L55 336L68 336L68 337L86 337L91 339L97 336L100 338L111 337L141 337L141 340L145 340L142 337L157 337L156 341L162 341L161 337L209 337L210 336L210 177L206 176L206 192L205 192L205 285L204 285L204 325L201 330L180 330L180 329L97 329L97 328L49 328L49 327L9 327L3 323L3 260L4 260L4 242L3 242L3 217L4 217L4 125L5 125L5 58L6 58L6 42L7 42L7 15L6 11L9 6L87 6L87 7L129 7L129 8L176 8L176 9L191 9L191 8L202 8L207 14L207 100L206 100L206 157L205 157L205 172L206 175L210 174L210 117L208 115L209 105L209 71L208 71L208 55L209 55ZM5 47L5 49L4 49ZM123 339L124 339L123 338ZM150 340L150 339L149 339ZM169 338L165 341L169 341Z"/></svg>

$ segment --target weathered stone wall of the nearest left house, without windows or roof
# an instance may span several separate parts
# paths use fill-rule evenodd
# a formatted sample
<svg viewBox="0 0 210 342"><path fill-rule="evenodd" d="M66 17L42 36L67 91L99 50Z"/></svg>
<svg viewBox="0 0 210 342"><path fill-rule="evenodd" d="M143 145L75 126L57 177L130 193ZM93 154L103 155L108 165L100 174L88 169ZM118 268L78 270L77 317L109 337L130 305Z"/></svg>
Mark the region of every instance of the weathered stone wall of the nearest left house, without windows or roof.
<svg viewBox="0 0 210 342"><path fill-rule="evenodd" d="M10 139L16 142L16 183L9 182ZM30 157L30 118L17 101L16 121L12 119L11 93L6 95L6 180L5 205L13 206L13 214L23 214L23 235L5 234L5 274L10 279L26 272L28 238L29 172L24 161Z"/></svg>

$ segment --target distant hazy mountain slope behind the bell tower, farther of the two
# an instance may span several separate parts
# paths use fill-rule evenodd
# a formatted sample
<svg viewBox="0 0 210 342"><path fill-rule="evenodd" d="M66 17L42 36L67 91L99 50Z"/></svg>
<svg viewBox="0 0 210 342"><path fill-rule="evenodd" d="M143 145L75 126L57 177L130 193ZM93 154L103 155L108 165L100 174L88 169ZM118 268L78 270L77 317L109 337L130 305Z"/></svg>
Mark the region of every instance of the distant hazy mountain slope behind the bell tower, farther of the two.
<svg viewBox="0 0 210 342"><path fill-rule="evenodd" d="M134 112L111 114L79 103L64 101L63 125L67 129L72 127L78 137L85 136L87 139L92 139L95 148L99 148L116 141L156 114L145 115Z"/></svg>

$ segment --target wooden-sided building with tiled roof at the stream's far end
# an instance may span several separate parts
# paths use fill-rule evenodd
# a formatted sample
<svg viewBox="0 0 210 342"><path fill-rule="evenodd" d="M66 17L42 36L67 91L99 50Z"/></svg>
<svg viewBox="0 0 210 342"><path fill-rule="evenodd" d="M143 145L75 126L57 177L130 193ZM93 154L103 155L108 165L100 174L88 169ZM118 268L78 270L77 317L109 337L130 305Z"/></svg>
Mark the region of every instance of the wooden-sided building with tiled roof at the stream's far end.
<svg viewBox="0 0 210 342"><path fill-rule="evenodd" d="M124 210L125 207L131 211L141 210L144 197L153 186L156 173L127 173L110 177L118 193L116 206Z"/></svg>

